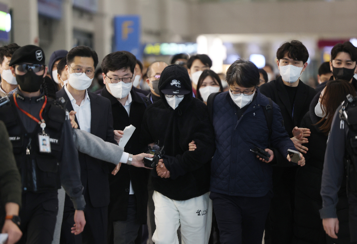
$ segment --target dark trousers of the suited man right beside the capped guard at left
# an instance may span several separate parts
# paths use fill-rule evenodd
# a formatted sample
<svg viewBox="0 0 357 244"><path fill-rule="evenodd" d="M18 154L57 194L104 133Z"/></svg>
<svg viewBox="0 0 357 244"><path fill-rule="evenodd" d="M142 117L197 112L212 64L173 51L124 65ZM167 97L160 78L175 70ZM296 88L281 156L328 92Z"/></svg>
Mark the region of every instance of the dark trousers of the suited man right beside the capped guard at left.
<svg viewBox="0 0 357 244"><path fill-rule="evenodd" d="M88 189L88 188L87 188ZM61 244L103 244L107 243L108 206L93 207L88 191L84 192L85 221L84 230L78 235L71 233L74 224L74 208L69 205L69 197L66 195L63 221L61 228Z"/></svg>

